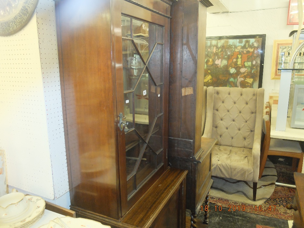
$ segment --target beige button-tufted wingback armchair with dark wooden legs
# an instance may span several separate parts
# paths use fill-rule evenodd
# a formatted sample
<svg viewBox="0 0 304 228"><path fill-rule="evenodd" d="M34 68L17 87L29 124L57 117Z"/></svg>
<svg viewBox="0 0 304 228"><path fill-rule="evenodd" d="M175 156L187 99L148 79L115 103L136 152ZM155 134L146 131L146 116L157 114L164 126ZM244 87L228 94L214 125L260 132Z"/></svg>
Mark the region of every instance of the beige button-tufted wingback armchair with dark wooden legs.
<svg viewBox="0 0 304 228"><path fill-rule="evenodd" d="M216 138L212 176L253 182L260 168L264 89L208 87L203 137Z"/></svg>

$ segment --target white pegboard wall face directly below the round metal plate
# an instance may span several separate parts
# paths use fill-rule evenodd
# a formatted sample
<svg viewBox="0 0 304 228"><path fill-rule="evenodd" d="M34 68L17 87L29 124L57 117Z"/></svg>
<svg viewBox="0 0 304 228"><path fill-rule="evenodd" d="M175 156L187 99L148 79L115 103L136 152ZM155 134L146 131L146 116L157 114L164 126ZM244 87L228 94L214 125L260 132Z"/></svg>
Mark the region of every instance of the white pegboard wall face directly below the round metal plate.
<svg viewBox="0 0 304 228"><path fill-rule="evenodd" d="M36 14L18 33L0 36L0 146L9 185L54 197Z"/></svg>

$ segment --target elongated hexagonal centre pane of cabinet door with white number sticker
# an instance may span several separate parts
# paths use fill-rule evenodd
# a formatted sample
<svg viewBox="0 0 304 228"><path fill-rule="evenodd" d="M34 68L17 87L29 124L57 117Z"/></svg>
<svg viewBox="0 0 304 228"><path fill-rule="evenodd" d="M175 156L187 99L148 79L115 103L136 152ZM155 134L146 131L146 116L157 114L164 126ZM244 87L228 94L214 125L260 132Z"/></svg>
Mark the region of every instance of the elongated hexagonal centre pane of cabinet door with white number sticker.
<svg viewBox="0 0 304 228"><path fill-rule="evenodd" d="M151 77L144 71L135 91L135 129L147 140L156 118L156 91L157 88Z"/></svg>

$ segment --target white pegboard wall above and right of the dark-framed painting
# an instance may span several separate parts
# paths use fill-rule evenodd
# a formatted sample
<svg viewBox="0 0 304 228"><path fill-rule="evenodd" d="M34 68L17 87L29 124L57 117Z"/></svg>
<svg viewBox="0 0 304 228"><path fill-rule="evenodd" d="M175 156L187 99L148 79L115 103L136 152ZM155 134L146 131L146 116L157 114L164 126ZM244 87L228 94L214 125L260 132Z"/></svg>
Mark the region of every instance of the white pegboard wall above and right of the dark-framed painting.
<svg viewBox="0 0 304 228"><path fill-rule="evenodd" d="M280 26L284 27L280 24L281 12L282 9L266 9L223 14L207 13L206 36L266 34L262 84L265 89L265 101L268 101L269 93L275 85L274 80L270 79L271 60L273 41L278 39Z"/></svg>

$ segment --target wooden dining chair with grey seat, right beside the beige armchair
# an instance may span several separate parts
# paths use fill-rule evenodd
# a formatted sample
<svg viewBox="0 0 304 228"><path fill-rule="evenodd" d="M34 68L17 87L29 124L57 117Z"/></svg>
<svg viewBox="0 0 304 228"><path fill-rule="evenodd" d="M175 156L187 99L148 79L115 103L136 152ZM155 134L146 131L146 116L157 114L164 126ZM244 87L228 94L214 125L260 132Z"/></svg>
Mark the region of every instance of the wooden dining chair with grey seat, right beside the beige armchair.
<svg viewBox="0 0 304 228"><path fill-rule="evenodd" d="M260 157L259 179L262 177L268 155L292 157L292 169L299 173L302 172L303 151L298 141L270 138L270 118L269 115L263 116L264 142ZM299 159L296 169L297 159Z"/></svg>

